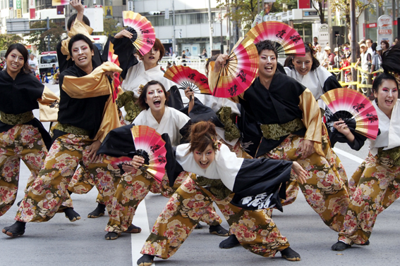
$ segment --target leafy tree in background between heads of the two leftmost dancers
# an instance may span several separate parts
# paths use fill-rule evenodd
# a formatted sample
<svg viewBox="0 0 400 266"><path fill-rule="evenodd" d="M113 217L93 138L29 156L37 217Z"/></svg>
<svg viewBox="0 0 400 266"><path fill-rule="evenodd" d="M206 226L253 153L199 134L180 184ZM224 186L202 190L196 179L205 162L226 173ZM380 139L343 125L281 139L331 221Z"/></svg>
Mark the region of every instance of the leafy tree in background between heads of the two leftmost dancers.
<svg viewBox="0 0 400 266"><path fill-rule="evenodd" d="M37 51L42 53L42 51L47 51L47 37L50 39L50 51L56 51L57 44L62 39L62 34L65 32L63 28L55 23L50 23L50 30L35 30L30 32L30 38L28 41L30 44L35 44L37 46ZM30 25L31 29L40 29L47 27L46 21L38 21Z"/></svg>

